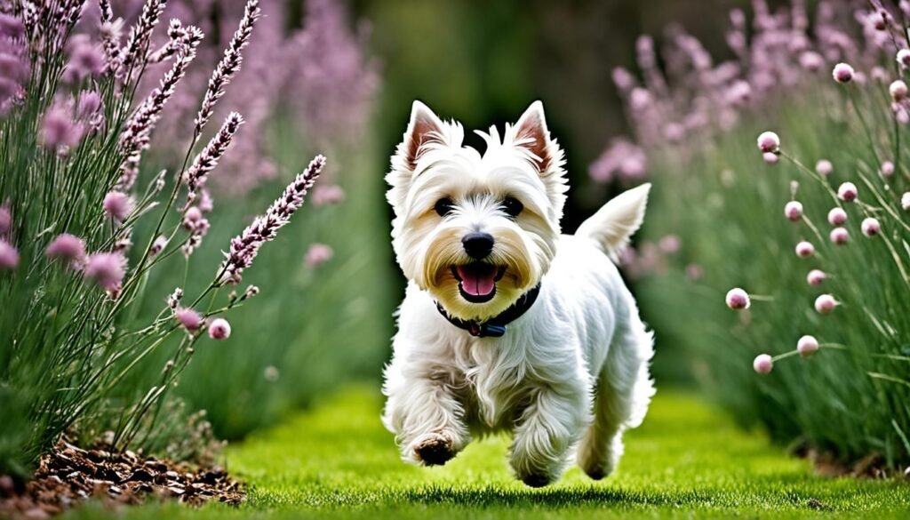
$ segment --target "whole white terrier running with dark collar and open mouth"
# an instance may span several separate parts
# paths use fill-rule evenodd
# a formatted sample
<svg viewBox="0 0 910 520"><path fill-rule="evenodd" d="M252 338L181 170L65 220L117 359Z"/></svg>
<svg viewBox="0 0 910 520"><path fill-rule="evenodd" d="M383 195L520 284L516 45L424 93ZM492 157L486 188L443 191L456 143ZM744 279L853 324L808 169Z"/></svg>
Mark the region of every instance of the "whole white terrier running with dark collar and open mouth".
<svg viewBox="0 0 910 520"><path fill-rule="evenodd" d="M445 464L472 435L508 430L525 484L557 480L576 452L600 479L654 393L652 334L611 261L650 185L562 235L564 160L541 103L502 138L478 133L482 155L415 101L392 158L392 238L409 284L383 423L408 462Z"/></svg>

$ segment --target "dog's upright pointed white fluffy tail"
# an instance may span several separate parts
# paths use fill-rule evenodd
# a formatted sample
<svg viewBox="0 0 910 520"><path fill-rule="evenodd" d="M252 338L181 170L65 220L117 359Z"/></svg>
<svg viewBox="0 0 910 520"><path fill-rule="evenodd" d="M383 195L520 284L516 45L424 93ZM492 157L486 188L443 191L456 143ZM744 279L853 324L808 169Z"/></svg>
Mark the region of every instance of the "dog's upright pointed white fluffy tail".
<svg viewBox="0 0 910 520"><path fill-rule="evenodd" d="M632 234L642 225L649 191L651 183L623 191L581 222L575 236L593 240L613 261L618 261Z"/></svg>

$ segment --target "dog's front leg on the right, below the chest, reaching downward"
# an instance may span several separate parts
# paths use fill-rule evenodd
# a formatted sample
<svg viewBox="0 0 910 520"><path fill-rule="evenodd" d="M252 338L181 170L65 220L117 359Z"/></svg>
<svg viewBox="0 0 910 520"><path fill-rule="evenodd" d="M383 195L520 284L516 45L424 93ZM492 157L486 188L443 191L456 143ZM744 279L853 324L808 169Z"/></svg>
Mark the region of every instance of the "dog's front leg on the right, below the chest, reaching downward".
<svg viewBox="0 0 910 520"><path fill-rule="evenodd" d="M586 395L574 387L531 391L511 445L511 467L522 482L541 487L560 477L586 420Z"/></svg>

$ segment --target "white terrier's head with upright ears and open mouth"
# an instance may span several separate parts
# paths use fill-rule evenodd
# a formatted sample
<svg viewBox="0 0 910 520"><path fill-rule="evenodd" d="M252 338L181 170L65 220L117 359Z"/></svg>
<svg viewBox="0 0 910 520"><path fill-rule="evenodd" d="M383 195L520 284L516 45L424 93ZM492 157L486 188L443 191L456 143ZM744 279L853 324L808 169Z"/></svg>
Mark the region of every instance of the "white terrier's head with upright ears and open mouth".
<svg viewBox="0 0 910 520"><path fill-rule="evenodd" d="M496 127L477 133L482 154L463 146L460 123L415 101L386 180L405 276L450 315L482 321L550 269L568 187L540 101L502 138Z"/></svg>

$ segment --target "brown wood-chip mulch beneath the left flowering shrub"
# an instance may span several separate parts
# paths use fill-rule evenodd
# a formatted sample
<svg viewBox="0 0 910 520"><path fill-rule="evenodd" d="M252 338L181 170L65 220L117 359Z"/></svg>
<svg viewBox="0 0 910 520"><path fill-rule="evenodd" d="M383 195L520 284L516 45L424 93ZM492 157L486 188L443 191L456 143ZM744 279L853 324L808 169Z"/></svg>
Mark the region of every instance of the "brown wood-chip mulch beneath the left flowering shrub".
<svg viewBox="0 0 910 520"><path fill-rule="evenodd" d="M48 518L89 499L116 507L149 498L239 505L244 491L218 466L199 467L130 451L84 450L65 440L41 457L32 480L22 483L0 475L0 518Z"/></svg>

